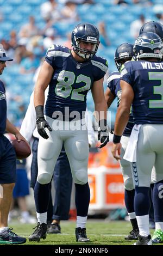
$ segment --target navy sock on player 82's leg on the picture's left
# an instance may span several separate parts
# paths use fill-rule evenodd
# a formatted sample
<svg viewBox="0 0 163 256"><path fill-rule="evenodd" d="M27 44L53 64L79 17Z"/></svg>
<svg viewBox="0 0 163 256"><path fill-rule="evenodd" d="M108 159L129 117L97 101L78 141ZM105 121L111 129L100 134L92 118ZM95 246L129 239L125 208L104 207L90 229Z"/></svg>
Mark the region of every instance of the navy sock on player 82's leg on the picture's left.
<svg viewBox="0 0 163 256"><path fill-rule="evenodd" d="M47 212L48 203L49 203L49 183L42 185L38 181L36 181L34 188L34 198L36 211L39 214L43 214L43 212Z"/></svg>

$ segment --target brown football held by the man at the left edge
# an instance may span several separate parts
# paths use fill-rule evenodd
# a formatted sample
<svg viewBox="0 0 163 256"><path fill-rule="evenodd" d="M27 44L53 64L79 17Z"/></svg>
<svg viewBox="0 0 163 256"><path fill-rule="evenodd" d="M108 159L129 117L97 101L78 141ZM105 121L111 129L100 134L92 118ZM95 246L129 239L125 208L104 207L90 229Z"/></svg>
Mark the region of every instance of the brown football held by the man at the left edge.
<svg viewBox="0 0 163 256"><path fill-rule="evenodd" d="M14 139L14 141L12 141L11 144L15 149L17 159L21 160L30 156L31 150L27 142L22 141L22 139L20 142L18 142L17 139Z"/></svg>

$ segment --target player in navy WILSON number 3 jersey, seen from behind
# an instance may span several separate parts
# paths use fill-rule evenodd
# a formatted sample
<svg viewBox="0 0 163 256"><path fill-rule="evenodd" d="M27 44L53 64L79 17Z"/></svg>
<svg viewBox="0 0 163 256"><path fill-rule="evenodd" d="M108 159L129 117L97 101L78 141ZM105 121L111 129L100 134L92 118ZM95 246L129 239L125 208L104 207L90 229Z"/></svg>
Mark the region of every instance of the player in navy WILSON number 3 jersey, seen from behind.
<svg viewBox="0 0 163 256"><path fill-rule="evenodd" d="M151 172L155 167L156 184L160 195L154 200L155 224L163 231L162 164L163 116L162 80L163 63L161 38L155 33L142 33L135 41L135 57L121 69L121 103L118 107L112 155L120 159L121 136L129 119L130 107L134 127L124 159L133 162L135 180L134 208L139 227L139 240L134 245L152 245L149 231L149 187Z"/></svg>

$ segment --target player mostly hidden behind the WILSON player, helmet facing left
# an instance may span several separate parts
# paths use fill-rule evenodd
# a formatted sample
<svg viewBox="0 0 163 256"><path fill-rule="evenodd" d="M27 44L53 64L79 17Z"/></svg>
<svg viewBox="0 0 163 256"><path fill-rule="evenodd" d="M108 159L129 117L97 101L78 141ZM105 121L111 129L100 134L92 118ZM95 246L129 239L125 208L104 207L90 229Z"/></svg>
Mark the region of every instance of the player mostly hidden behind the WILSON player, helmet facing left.
<svg viewBox="0 0 163 256"><path fill-rule="evenodd" d="M121 101L121 87L120 87L120 69L123 63L131 60L134 56L132 44L128 44L124 42L120 46L117 47L115 52L115 63L117 66L118 71L112 72L108 77L107 83L108 88L105 92L105 99L108 104L108 108L111 106L111 103L117 97L117 107L120 105ZM139 235L139 228L137 227L137 221L135 216L134 210L134 194L135 194L135 186L133 182L133 176L131 172L131 163L123 159L123 155L127 148L127 144L129 141L129 137L131 134L131 130L134 126L133 115L130 113L130 118L127 123L127 126L123 132L123 136L121 139L122 143L122 150L121 150L121 157L120 166L122 170L123 180L124 180L124 202L126 205L126 209L128 212L128 216L130 218L131 225L133 230L130 231L130 234L125 237L126 240L137 240Z"/></svg>

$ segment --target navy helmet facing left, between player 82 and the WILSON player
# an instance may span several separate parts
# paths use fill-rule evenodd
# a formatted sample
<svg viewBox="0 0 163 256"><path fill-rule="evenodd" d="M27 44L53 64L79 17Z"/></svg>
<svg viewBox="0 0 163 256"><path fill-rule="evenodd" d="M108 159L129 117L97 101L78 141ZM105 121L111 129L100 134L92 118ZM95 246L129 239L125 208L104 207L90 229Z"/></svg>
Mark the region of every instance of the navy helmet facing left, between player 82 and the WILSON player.
<svg viewBox="0 0 163 256"><path fill-rule="evenodd" d="M124 62L126 62L127 60L131 60L131 58L133 58L133 47L134 45L129 44L128 42L124 42L123 44L117 47L114 60L118 71L121 70L121 66Z"/></svg>

